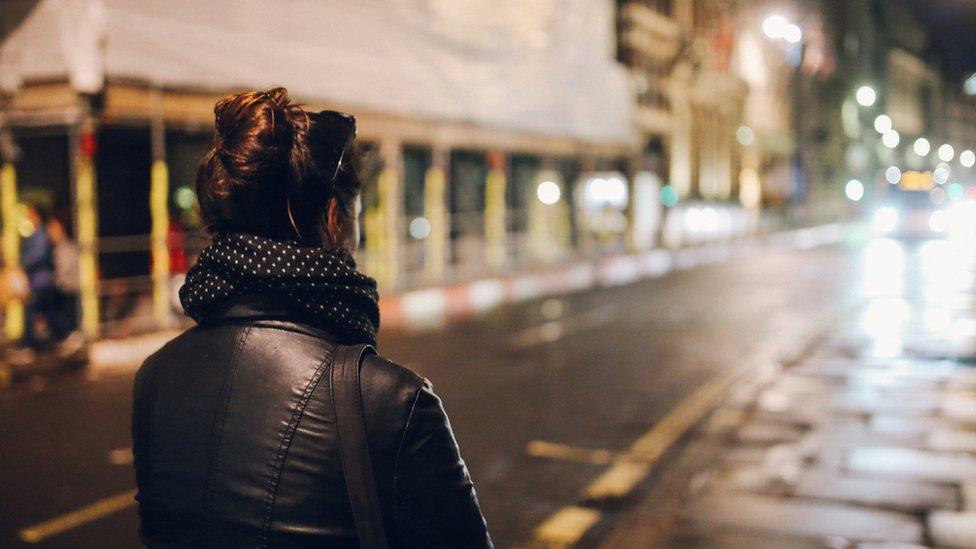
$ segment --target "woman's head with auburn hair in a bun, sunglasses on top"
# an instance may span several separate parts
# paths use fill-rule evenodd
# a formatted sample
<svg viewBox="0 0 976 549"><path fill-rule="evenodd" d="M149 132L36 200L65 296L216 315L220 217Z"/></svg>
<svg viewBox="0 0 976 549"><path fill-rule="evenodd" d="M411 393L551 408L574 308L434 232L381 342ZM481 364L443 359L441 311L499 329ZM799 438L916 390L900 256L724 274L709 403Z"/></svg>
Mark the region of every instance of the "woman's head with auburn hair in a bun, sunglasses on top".
<svg viewBox="0 0 976 549"><path fill-rule="evenodd" d="M307 113L284 88L226 97L214 113L213 145L197 172L211 233L355 249L361 180L349 157L352 117Z"/></svg>

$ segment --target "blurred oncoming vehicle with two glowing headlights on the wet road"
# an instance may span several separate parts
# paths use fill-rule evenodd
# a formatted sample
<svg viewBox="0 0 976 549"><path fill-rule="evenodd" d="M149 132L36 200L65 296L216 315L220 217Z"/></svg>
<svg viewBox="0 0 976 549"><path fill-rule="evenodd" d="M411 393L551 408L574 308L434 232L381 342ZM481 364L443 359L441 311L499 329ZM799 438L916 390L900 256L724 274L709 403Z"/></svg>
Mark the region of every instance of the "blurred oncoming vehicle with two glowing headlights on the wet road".
<svg viewBox="0 0 976 549"><path fill-rule="evenodd" d="M879 234L894 238L944 238L949 214L936 204L929 191L888 189L885 200L874 211L872 224Z"/></svg>

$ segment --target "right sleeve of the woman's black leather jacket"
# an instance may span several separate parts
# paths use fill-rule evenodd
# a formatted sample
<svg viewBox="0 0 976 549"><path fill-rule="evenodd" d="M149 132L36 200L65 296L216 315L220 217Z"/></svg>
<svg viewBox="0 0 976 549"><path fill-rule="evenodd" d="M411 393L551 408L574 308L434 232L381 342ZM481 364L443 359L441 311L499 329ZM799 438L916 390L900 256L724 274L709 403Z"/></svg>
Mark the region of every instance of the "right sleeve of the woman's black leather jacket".
<svg viewBox="0 0 976 549"><path fill-rule="evenodd" d="M492 547L441 399L417 393L397 458L398 538L407 547Z"/></svg>

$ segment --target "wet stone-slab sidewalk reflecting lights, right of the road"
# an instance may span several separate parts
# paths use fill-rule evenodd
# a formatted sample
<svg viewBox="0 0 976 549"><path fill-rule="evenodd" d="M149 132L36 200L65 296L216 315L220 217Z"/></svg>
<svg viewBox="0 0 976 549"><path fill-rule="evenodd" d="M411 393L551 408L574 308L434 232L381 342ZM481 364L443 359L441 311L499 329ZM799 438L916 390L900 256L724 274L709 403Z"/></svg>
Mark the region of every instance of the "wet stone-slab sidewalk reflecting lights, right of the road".
<svg viewBox="0 0 976 549"><path fill-rule="evenodd" d="M968 274L949 300L875 296L733 391L602 545L976 547Z"/></svg>

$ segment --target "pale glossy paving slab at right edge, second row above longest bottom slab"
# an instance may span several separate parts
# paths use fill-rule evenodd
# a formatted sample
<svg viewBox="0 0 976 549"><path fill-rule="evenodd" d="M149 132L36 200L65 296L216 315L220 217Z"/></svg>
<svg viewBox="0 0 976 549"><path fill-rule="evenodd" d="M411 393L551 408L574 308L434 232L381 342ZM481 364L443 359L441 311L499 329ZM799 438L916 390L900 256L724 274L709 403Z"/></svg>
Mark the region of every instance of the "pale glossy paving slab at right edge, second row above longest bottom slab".
<svg viewBox="0 0 976 549"><path fill-rule="evenodd" d="M902 480L958 483L976 478L976 456L894 446L854 448L848 454L847 468Z"/></svg>

